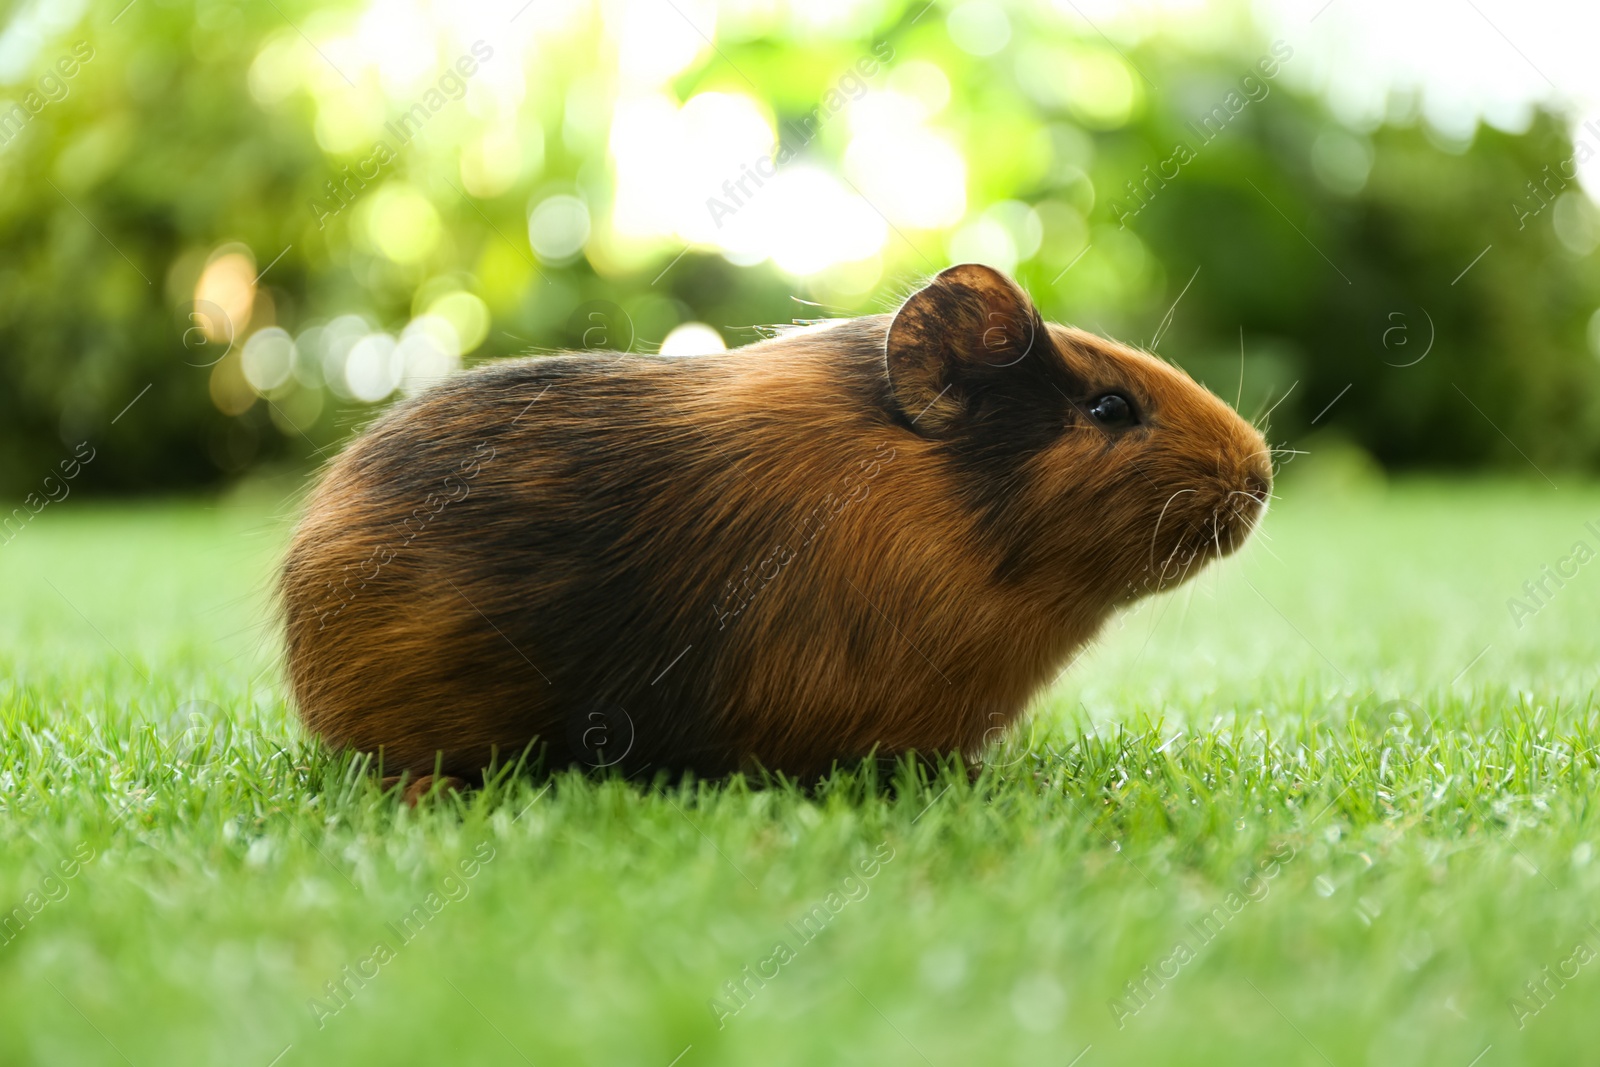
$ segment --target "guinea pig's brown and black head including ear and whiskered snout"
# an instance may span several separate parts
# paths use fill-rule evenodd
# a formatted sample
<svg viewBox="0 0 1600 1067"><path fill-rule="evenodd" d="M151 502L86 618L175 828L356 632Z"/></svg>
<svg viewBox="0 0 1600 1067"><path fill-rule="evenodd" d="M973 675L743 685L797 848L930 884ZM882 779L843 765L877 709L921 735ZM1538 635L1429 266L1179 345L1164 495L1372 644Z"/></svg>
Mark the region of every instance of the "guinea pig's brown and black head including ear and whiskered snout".
<svg viewBox="0 0 1600 1067"><path fill-rule="evenodd" d="M1267 507L1256 427L1154 355L1045 323L997 270L938 275L885 349L896 421L947 456L1002 581L1110 606L1234 552Z"/></svg>

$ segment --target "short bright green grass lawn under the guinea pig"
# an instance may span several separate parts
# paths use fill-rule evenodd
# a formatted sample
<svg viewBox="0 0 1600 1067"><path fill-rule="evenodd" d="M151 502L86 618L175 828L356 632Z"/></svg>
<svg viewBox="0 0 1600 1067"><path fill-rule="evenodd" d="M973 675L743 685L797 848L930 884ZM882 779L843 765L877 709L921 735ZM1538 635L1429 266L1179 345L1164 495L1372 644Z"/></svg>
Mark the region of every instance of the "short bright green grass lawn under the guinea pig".
<svg viewBox="0 0 1600 1067"><path fill-rule="evenodd" d="M1600 491L1285 498L976 782L558 774L418 811L285 707L269 506L51 506L0 545L0 909L38 904L0 1062L1592 1059L1600 561L1520 629L1506 600L1600 547ZM776 974L741 1005L747 965Z"/></svg>

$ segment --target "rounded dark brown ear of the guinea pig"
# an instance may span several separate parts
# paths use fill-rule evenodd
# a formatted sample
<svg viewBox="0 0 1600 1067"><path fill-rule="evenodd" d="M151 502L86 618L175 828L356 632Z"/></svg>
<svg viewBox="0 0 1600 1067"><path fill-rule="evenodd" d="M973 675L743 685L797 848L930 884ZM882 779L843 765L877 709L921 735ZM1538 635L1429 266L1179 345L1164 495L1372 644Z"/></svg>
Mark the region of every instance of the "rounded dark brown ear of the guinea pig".
<svg viewBox="0 0 1600 1067"><path fill-rule="evenodd" d="M957 424L986 381L1045 342L1045 323L1016 282L963 262L912 294L885 344L890 392L906 421L938 437Z"/></svg>

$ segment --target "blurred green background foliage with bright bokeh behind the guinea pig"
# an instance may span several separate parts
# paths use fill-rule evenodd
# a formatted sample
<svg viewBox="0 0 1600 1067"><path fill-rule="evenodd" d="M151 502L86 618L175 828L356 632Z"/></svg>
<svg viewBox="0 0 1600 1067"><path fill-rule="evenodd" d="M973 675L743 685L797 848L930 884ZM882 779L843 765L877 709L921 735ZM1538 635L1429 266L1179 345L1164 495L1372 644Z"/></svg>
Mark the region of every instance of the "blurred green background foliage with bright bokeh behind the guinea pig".
<svg viewBox="0 0 1600 1067"><path fill-rule="evenodd" d="M968 259L1280 445L1600 464L1566 117L1341 122L1245 8L125 3L0 32L6 496L80 442L115 491L304 469L461 365L731 347Z"/></svg>

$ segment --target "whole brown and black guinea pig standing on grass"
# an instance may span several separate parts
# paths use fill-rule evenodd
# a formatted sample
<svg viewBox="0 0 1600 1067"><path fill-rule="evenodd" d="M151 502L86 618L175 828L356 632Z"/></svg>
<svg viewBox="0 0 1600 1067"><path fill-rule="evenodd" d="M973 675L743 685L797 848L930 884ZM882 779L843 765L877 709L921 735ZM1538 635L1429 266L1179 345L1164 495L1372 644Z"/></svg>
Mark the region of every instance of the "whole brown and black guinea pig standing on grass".
<svg viewBox="0 0 1600 1067"><path fill-rule="evenodd" d="M1227 555L1261 435L960 266L693 358L491 363L381 418L280 592L306 725L389 773L974 755L1118 605Z"/></svg>

